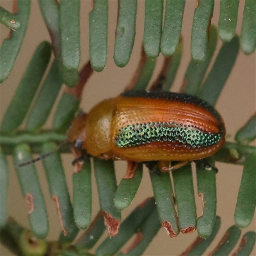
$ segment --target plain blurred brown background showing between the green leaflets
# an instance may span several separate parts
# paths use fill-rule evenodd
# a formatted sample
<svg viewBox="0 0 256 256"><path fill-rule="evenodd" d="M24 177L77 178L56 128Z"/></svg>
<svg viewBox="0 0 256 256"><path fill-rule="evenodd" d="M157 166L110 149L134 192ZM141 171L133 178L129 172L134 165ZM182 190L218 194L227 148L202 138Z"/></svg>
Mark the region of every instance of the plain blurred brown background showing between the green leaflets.
<svg viewBox="0 0 256 256"><path fill-rule="evenodd" d="M1 1L1 5L8 10L12 10L12 1ZM239 18L237 21L237 33L241 31L241 20L243 18L244 1L240 1L239 6ZM186 8L184 13L184 20L182 26L182 37L184 39L184 54L181 60L181 66L179 68L178 76L175 79L175 86L173 91L177 92L182 84L182 79L186 71L190 60L190 31L193 21L193 10L195 9L195 1L186 1ZM220 1L215 1L214 17L212 18L212 24L218 25L218 10L220 9ZM81 65L85 63L89 58L88 53L88 13L92 10L92 1L81 1ZM109 49L108 49L108 63L103 72L93 74L88 82L83 95L81 108L84 111L88 111L100 100L107 97L115 97L118 95L126 84L129 83L136 65L140 57L141 42L143 38L143 20L144 20L144 1L138 1L138 15L137 15L137 27L136 27L136 42L134 44L134 51L131 56L129 64L125 68L116 67L113 61L113 42L115 40L115 26L117 19L117 1L109 1ZM13 93L17 88L17 84L20 81L24 68L28 65L28 62L35 51L36 46L42 42L42 40L49 40L47 29L44 26L44 21L40 14L37 1L32 1L31 17L29 20L28 31L24 44L22 45L19 58L17 59L12 73L8 78L8 81L1 84L1 118L3 118L4 112L12 99ZM1 42L8 35L8 29L1 28ZM221 41L218 42L220 48ZM157 61L157 67L161 67L163 63L163 56L160 56ZM232 74L229 77L227 84L223 90L223 93L218 100L216 108L220 111L223 119L225 120L228 140L234 140L234 134L243 125L250 116L253 115L256 109L255 104L255 53L250 56L244 56L242 52L236 61L236 65L232 70ZM154 74L156 78L157 71ZM28 84L29 86L29 84ZM49 125L51 122L48 122ZM65 163L65 172L67 175L68 188L70 188L70 195L72 196L72 166L71 161L73 157L71 154L63 155L63 163ZM27 206L20 193L20 187L17 182L15 171L13 170L12 158L8 157L10 167L10 184L8 195L8 209L9 214L15 218L15 220L22 223L22 225L29 227L27 218ZM45 202L47 204L47 211L49 213L50 221L50 233L49 239L56 239L60 233L60 221L56 214L56 207L52 202L44 172L42 170L41 163L36 164L38 166L38 175L40 176L42 189L45 195ZM216 245L223 236L228 227L234 224L234 210L236 207L237 192L241 180L242 167L235 165L228 165L217 163L219 173L217 177L217 193L218 193L218 208L217 214L221 216L221 228L217 238L214 240ZM116 163L116 175L118 182L125 173L125 163ZM129 212L136 207L144 198L152 196L152 186L147 170L143 173L144 177L141 182L138 194L132 202L132 205L122 212L122 218L124 219ZM196 196L198 197L198 196ZM196 198L200 204L200 200ZM97 189L95 188L95 180L93 178L93 214L95 215L99 210L99 202L97 199ZM198 214L201 214L198 211ZM248 230L255 230L255 218L252 224L248 228L243 229L244 232ZM186 246L188 246L196 237L196 232L193 234L183 235L180 234L176 238L170 238L166 232L161 228L157 237L153 240L144 255L177 255L182 252ZM213 248L213 246L211 246ZM207 255L211 250L207 250ZM1 255L12 255L8 250L1 247ZM252 255L256 255L256 251L252 252Z"/></svg>

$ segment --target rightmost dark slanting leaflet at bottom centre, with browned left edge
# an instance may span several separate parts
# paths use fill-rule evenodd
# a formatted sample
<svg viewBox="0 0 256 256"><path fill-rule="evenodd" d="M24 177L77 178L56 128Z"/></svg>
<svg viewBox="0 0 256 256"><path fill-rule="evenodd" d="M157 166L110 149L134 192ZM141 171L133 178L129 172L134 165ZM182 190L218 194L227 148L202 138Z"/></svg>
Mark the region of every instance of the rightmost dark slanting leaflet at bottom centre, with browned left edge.
<svg viewBox="0 0 256 256"><path fill-rule="evenodd" d="M154 236L156 236L160 227L161 225L158 220L157 209L154 209L154 211L151 212L151 214L148 216L148 218L145 220L142 227L140 228L141 240L140 237L138 237L139 243L135 243L135 247L132 248L129 252L119 253L118 255L142 255L154 238Z"/></svg>

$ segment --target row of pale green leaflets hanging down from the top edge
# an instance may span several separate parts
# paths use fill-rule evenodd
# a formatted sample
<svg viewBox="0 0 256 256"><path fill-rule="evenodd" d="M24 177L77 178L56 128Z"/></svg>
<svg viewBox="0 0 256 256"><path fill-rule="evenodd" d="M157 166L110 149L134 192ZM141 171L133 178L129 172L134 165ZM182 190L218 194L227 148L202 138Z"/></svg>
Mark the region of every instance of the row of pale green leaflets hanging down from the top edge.
<svg viewBox="0 0 256 256"><path fill-rule="evenodd" d="M80 63L80 3L62 1L45 2L38 0L45 25L52 38L54 54L61 65L61 76L68 86L75 86L78 81ZM185 0L172 1L145 0L145 28L143 44L148 57L156 58L161 52L171 56L179 44L180 31ZM223 0L220 5L218 33L224 42L234 38L237 26L239 0ZM13 2L10 13L0 9L0 21L13 29L10 38L1 45L1 83L8 77L19 54L22 40L30 13L30 1ZM164 12L165 10L165 12ZM191 55L194 60L205 60L209 48L209 24L214 11L214 0L197 1L191 31ZM256 3L246 0L241 29L241 49L245 54L251 54L256 47ZM134 45L136 29L136 0L118 1L118 23L114 60L116 65L127 65ZM108 0L95 0L89 17L90 27L90 61L92 67L100 72L106 66L108 54ZM22 24L22 26L20 26ZM70 36L72 35L72 36Z"/></svg>

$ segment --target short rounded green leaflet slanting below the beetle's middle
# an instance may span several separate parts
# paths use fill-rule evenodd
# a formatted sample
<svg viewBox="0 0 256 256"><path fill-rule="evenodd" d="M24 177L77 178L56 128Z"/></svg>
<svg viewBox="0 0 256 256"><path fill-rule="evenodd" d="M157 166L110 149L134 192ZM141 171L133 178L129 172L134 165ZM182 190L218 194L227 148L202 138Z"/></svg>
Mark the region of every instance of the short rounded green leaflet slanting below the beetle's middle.
<svg viewBox="0 0 256 256"><path fill-rule="evenodd" d="M142 164L139 164L133 178L122 179L120 181L114 197L114 204L118 211L122 211L131 204L140 186L143 173L142 169Z"/></svg>

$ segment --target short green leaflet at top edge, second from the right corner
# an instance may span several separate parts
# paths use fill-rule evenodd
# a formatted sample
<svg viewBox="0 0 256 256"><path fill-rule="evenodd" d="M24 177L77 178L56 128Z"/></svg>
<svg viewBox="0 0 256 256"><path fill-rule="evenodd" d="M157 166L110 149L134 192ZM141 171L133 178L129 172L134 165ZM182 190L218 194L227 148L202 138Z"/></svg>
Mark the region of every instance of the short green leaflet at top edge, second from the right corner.
<svg viewBox="0 0 256 256"><path fill-rule="evenodd" d="M221 0L219 34L223 41L229 42L236 34L239 0Z"/></svg>

